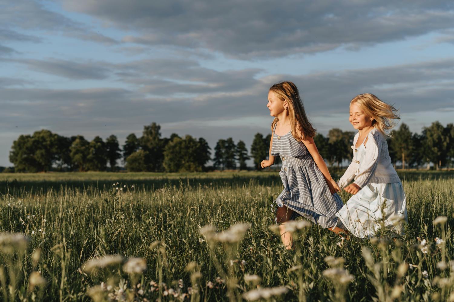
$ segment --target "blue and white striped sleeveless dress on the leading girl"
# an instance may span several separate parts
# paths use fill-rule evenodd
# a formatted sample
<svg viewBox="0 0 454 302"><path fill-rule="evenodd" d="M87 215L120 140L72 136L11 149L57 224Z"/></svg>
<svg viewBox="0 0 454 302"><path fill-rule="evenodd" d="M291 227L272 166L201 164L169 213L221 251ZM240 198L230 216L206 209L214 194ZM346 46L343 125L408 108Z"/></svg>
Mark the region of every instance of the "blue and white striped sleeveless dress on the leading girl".
<svg viewBox="0 0 454 302"><path fill-rule="evenodd" d="M291 219L302 216L323 228L337 223L336 212L344 205L339 195L331 194L325 178L308 153L291 132L279 136L273 129L271 155L279 156L279 172L284 189L276 198L276 205L293 210Z"/></svg>

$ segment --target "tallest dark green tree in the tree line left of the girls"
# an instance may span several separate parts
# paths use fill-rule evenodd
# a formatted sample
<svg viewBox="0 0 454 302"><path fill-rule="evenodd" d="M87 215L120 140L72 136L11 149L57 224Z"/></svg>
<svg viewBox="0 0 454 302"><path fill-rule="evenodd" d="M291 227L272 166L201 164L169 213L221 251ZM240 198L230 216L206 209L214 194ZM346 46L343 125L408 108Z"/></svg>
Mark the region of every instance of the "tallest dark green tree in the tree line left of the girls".
<svg viewBox="0 0 454 302"><path fill-rule="evenodd" d="M152 123L148 126L143 126L142 137L140 138L140 146L146 152L145 166L148 171L159 172L163 170L163 140L161 139L161 126Z"/></svg>

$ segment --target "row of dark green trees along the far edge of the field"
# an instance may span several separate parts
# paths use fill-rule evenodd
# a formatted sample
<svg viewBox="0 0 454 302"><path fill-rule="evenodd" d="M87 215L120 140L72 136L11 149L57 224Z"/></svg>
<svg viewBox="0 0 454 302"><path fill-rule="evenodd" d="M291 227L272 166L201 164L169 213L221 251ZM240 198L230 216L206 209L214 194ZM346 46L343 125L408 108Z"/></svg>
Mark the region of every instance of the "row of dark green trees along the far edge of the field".
<svg viewBox="0 0 454 302"><path fill-rule="evenodd" d="M205 139L191 135L180 137L175 133L163 138L160 130L161 126L156 123L146 125L141 137L129 134L120 148L115 135L105 141L99 136L87 141L82 135L64 137L43 129L32 135L20 135L11 147L10 162L15 172L116 171L120 159L132 172L201 172L245 170L249 159L258 169L269 153L271 134L265 137L255 134L250 153L242 140L235 144L232 138L219 139L211 158L211 148ZM353 131L335 128L326 137L316 134L314 141L329 165L341 168L342 163L351 160L354 135ZM424 164L429 168L430 163L434 163L436 169L449 168L453 162L453 124L444 127L437 121L424 127L421 134L411 133L409 127L402 124L391 135L387 139L390 156L394 163L400 162L402 168L419 168ZM207 167L210 160L212 167Z"/></svg>

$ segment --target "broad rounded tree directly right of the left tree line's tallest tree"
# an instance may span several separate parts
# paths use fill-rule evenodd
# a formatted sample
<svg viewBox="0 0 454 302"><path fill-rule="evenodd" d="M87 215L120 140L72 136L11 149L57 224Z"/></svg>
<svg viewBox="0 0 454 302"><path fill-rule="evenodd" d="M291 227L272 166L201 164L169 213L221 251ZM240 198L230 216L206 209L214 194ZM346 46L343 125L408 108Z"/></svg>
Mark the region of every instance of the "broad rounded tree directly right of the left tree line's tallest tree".
<svg viewBox="0 0 454 302"><path fill-rule="evenodd" d="M204 139L197 140L191 135L183 139L175 137L164 149L164 168L167 172L200 172L209 158ZM203 145L203 146L202 146ZM205 149L205 151L203 151ZM208 147L209 149L209 147ZM209 151L208 151L209 152ZM202 157L203 160L200 160Z"/></svg>

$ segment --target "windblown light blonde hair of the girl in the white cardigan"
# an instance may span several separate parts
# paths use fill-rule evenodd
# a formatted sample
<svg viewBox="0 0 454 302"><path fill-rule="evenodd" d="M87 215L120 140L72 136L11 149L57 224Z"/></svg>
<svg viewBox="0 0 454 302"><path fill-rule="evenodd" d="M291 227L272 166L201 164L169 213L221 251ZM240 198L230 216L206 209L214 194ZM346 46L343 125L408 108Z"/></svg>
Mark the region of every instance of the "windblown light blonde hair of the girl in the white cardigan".
<svg viewBox="0 0 454 302"><path fill-rule="evenodd" d="M350 105L353 103L358 104L366 115L374 118L372 125L375 128L379 129L381 133L391 136L386 131L397 124L395 120L400 120L400 115L397 114L394 106L381 101L371 93L363 93L355 96L350 101Z"/></svg>

